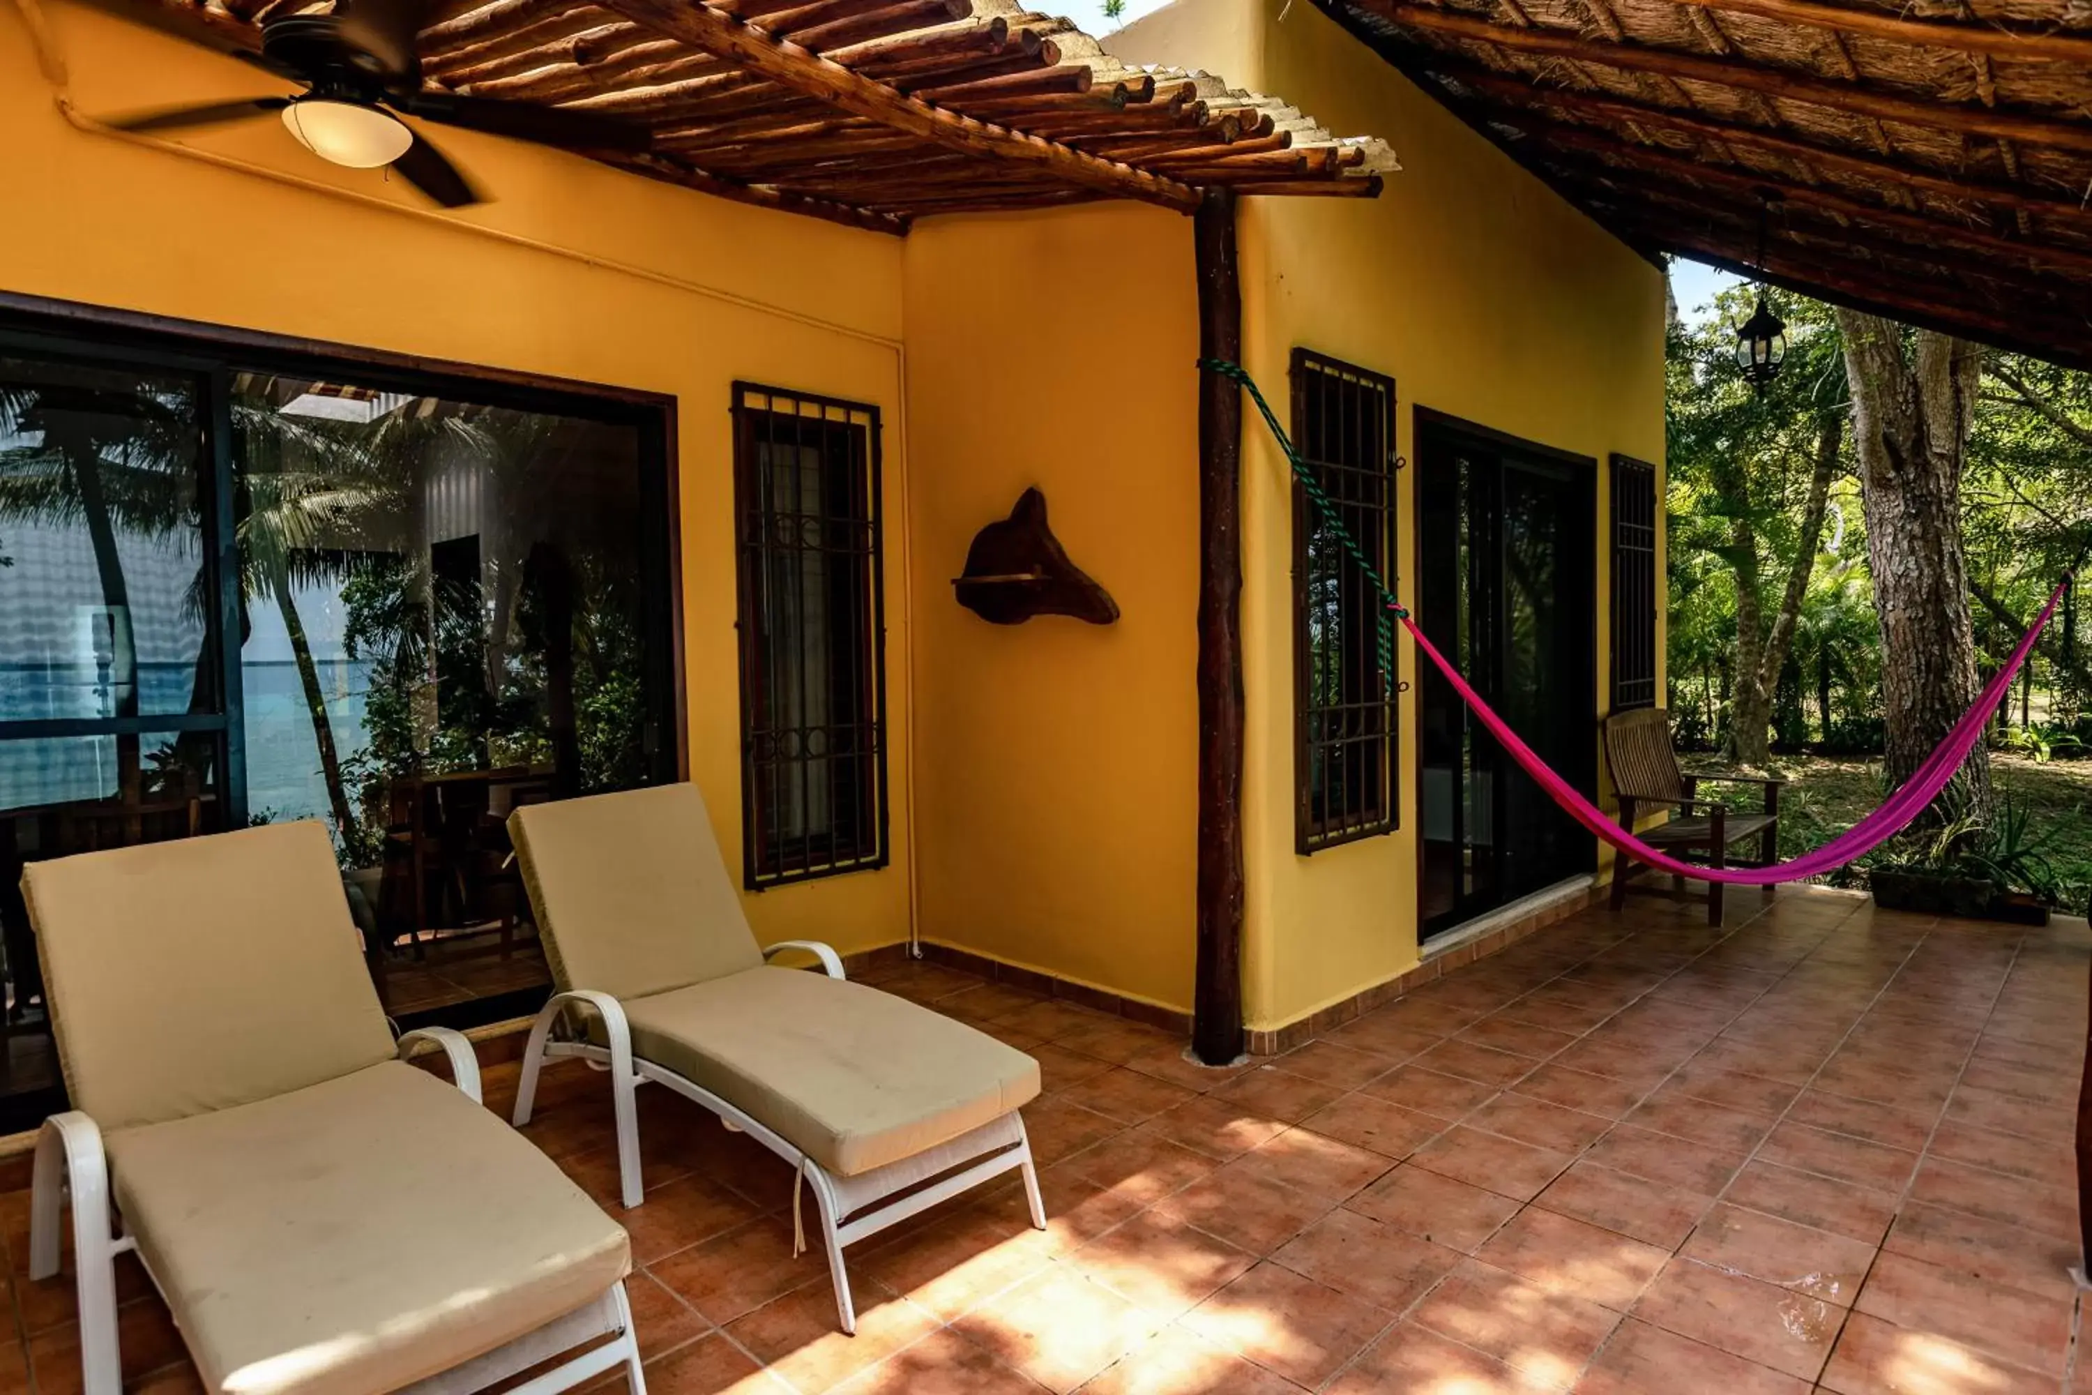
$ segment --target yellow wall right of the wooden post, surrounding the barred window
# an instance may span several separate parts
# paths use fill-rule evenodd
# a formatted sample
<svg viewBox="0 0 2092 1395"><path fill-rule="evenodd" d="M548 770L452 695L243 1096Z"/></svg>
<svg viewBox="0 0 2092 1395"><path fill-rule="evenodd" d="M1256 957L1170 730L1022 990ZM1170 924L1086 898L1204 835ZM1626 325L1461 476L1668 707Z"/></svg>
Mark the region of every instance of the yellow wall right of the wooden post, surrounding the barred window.
<svg viewBox="0 0 2092 1395"><path fill-rule="evenodd" d="M1211 36L1211 42L1203 36ZM1596 680L1609 673L1611 452L1663 460L1663 278L1462 125L1335 21L1284 0L1178 0L1109 44L1128 61L1215 67L1282 92L1341 134L1387 138L1402 171L1374 203L1243 205L1247 368L1284 416L1295 345L1391 374L1397 439L1414 408L1600 462ZM1402 699L1402 830L1301 857L1293 830L1293 500L1284 458L1245 427L1247 975L1251 1027L1278 1027L1418 960L1416 701ZM1414 473L1395 523L1414 573ZM1414 650L1400 644L1414 684ZM1661 642L1659 642L1661 655ZM1592 734L1596 742L1596 732Z"/></svg>

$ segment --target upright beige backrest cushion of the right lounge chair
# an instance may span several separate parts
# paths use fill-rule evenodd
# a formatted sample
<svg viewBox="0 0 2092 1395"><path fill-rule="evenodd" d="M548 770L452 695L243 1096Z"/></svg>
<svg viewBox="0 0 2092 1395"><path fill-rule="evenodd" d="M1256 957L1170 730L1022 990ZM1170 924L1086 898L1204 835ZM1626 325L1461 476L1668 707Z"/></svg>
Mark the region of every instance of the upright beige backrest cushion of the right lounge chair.
<svg viewBox="0 0 2092 1395"><path fill-rule="evenodd" d="M508 816L552 979L644 998L764 962L695 784Z"/></svg>

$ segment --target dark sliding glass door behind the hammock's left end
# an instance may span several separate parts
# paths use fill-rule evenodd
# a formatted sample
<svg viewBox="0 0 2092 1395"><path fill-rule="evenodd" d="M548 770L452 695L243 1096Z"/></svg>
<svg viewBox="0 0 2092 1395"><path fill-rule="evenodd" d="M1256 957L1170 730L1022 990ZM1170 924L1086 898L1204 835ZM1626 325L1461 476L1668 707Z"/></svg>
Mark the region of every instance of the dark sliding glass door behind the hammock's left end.
<svg viewBox="0 0 2092 1395"><path fill-rule="evenodd" d="M1596 778L1594 466L1418 412L1418 623L1554 770ZM1418 690L1420 924L1590 870L1594 845L1429 667Z"/></svg>

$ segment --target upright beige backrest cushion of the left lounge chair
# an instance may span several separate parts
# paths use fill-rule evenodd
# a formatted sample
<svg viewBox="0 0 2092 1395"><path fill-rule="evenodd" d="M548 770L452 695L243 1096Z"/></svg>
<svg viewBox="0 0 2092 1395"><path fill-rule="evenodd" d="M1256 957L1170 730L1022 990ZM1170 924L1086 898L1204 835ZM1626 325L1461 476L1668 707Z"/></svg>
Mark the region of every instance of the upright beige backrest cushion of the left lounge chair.
<svg viewBox="0 0 2092 1395"><path fill-rule="evenodd" d="M33 862L21 885L65 1085L103 1129L393 1054L320 824Z"/></svg>

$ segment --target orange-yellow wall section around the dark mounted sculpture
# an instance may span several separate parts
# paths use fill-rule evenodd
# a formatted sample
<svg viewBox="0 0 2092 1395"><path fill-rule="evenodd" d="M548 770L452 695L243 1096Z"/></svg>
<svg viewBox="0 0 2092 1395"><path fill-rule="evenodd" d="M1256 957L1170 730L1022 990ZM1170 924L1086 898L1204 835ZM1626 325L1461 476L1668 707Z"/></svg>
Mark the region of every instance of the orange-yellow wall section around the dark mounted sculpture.
<svg viewBox="0 0 2092 1395"><path fill-rule="evenodd" d="M1188 1010L1199 458L1190 222L937 218L906 249L920 924ZM1115 625L952 598L1027 485Z"/></svg>

